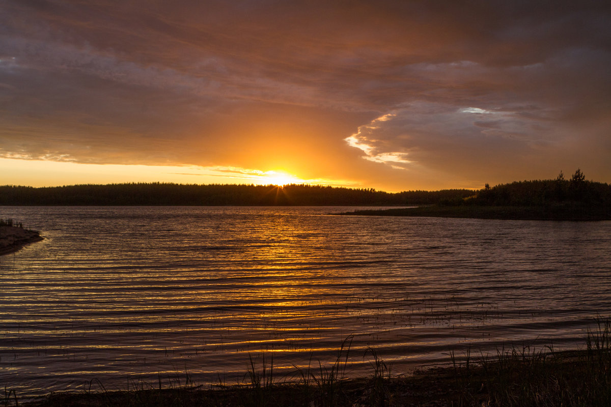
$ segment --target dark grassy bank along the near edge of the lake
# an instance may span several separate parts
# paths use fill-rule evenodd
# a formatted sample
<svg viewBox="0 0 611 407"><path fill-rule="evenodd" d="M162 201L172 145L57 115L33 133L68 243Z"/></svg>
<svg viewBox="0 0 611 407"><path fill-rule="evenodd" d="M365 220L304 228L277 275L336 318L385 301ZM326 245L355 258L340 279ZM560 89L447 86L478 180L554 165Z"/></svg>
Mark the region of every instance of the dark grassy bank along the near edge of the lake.
<svg viewBox="0 0 611 407"><path fill-rule="evenodd" d="M240 386L203 388L177 380L169 388L143 383L109 392L92 381L86 392L56 393L42 400L19 403L5 389L2 405L43 407L592 407L611 406L611 322L598 320L588 330L586 348L557 351L546 347L512 346L492 355L474 356L470 348L459 358L448 353L451 365L392 376L390 366L374 348L364 358L371 364L369 377L346 380L352 338L348 337L329 366L319 362L298 369L297 380L274 376L273 355L250 357L247 382Z"/></svg>

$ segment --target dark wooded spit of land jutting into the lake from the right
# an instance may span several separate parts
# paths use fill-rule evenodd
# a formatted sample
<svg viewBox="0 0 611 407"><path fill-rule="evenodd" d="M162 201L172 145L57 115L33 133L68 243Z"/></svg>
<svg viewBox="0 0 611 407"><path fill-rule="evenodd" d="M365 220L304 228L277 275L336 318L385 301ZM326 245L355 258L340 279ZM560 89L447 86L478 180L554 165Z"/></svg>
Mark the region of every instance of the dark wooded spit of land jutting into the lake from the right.
<svg viewBox="0 0 611 407"><path fill-rule="evenodd" d="M417 204L417 203L414 203ZM579 168L565 179L516 181L486 186L425 206L343 212L341 215L412 216L514 220L611 220L611 186L587 181Z"/></svg>

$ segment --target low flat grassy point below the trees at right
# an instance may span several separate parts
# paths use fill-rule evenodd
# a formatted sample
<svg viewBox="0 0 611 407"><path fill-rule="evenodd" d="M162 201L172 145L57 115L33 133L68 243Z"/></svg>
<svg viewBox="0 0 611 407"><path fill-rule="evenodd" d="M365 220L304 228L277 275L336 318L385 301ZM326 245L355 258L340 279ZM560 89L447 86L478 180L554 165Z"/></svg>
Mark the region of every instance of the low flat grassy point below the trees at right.
<svg viewBox="0 0 611 407"><path fill-rule="evenodd" d="M417 206L397 209L367 209L364 211L342 212L338 215L361 216L408 216L505 220L557 220L588 222L611 220L610 207L590 206Z"/></svg>

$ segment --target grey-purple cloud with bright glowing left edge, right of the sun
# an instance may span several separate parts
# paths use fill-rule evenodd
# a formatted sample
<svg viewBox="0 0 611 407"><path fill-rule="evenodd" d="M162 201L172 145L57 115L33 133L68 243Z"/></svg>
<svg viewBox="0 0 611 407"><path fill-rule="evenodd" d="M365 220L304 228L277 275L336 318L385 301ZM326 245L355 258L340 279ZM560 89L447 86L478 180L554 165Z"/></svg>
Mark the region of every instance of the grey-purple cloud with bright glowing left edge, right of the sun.
<svg viewBox="0 0 611 407"><path fill-rule="evenodd" d="M412 103L360 126L345 141L363 158L406 175L429 171L463 179L500 176L508 167L523 174L541 157L568 151L570 132L540 120L546 113L535 107L480 106Z"/></svg>

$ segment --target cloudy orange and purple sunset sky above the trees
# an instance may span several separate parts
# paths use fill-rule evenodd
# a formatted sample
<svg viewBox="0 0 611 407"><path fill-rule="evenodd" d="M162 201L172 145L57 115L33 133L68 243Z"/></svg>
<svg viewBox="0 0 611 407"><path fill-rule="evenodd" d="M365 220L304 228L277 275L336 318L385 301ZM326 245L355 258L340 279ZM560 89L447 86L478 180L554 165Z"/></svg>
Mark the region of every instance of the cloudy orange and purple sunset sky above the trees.
<svg viewBox="0 0 611 407"><path fill-rule="evenodd" d="M0 0L0 184L611 182L609 1Z"/></svg>

